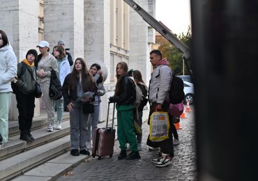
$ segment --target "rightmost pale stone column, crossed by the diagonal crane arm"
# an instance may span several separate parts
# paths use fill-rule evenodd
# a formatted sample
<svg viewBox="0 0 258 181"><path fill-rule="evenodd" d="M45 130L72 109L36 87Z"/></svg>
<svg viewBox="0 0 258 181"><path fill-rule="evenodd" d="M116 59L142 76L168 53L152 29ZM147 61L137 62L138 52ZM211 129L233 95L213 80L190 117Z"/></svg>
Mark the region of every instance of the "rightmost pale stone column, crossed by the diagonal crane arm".
<svg viewBox="0 0 258 181"><path fill-rule="evenodd" d="M155 0L136 0L135 2L155 17ZM129 67L142 72L142 78L147 85L151 76L149 52L151 52L151 43L155 42L154 35L155 31L149 24L130 8Z"/></svg>

